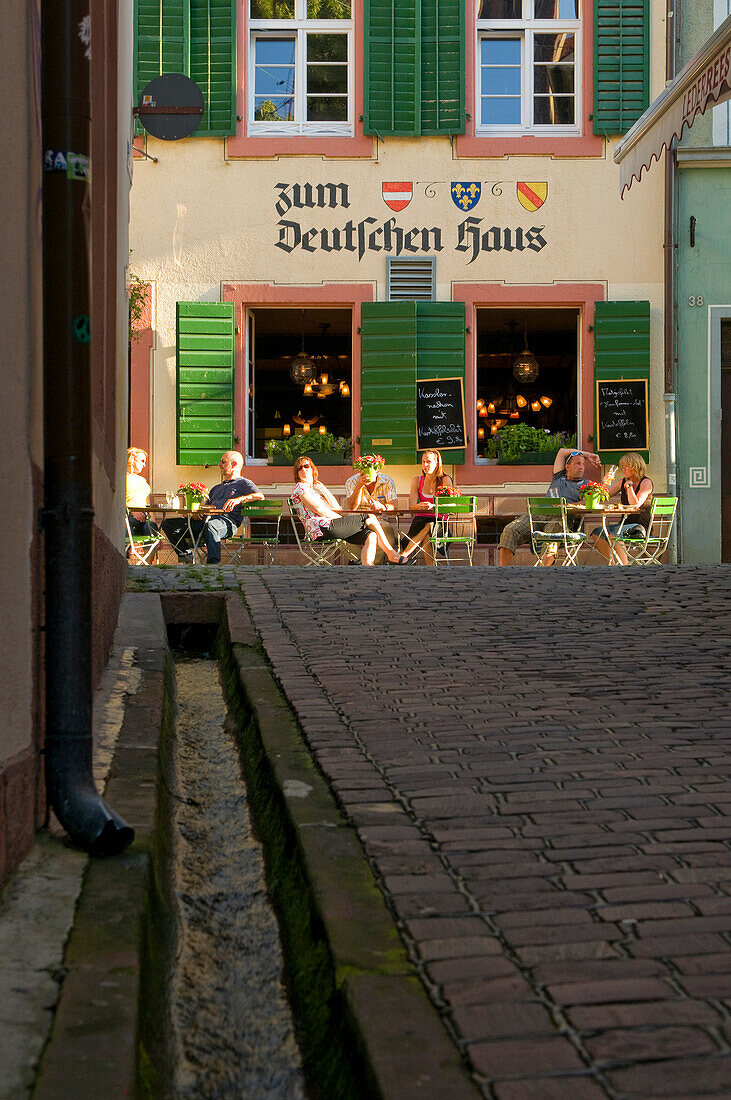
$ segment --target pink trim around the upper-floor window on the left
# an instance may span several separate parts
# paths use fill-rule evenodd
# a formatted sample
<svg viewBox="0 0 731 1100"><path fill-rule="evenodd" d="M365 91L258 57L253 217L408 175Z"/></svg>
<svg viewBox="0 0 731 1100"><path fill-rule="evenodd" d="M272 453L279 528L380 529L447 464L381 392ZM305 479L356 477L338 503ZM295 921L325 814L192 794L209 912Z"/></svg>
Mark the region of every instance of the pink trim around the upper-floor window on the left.
<svg viewBox="0 0 731 1100"><path fill-rule="evenodd" d="M288 138L285 134L274 134L272 138L248 136L248 3L240 0L241 19L236 21L236 54L240 74L236 89L236 123L235 138L226 139L226 156L373 156L374 139L363 133L363 6L353 3L353 112L355 116L355 132L352 138L337 135L334 138Z"/></svg>

